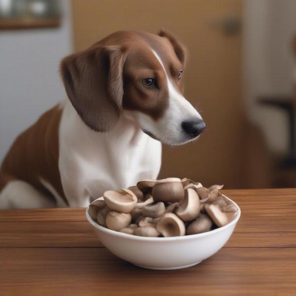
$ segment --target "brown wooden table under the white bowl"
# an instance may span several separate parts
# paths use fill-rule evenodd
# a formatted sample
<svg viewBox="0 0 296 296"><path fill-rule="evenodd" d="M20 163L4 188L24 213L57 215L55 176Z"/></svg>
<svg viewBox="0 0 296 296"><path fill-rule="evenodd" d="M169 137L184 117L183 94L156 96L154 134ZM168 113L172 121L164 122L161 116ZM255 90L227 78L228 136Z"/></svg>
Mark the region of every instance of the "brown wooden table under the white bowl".
<svg viewBox="0 0 296 296"><path fill-rule="evenodd" d="M84 209L0 211L0 295L296 295L296 189L224 190L242 216L228 243L187 269L117 259Z"/></svg>

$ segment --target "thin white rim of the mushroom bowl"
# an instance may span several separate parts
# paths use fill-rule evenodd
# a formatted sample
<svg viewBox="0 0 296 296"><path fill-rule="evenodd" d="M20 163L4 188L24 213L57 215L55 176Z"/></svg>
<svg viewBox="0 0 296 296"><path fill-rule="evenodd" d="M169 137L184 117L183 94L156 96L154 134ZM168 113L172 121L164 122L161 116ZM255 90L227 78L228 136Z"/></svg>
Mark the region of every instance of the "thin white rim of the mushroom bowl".
<svg viewBox="0 0 296 296"><path fill-rule="evenodd" d="M118 236L118 237L127 238L127 239L131 239L131 240L136 240L136 241L153 241L153 242L168 242L168 241L179 241L179 240L183 241L183 240L190 240L190 239L194 239L194 238L205 237L205 236L216 234L218 232L221 232L221 231L231 227L233 224L235 225L238 222L238 220L241 216L240 207L232 199L230 199L229 197L227 197L224 194L222 194L222 195L236 205L237 213L236 213L235 218L230 223L226 224L225 226L222 226L222 227L219 227L219 228L207 231L207 232L202 232L202 233L197 233L197 234L189 234L189 235L184 235L184 236L147 237L147 236L137 236L134 234L119 232L119 231L115 231L115 230L109 229L107 227L101 226L100 224L95 222L88 214L89 206L86 208L85 213L86 213L86 218L87 218L88 222L90 222L95 228L97 228L100 231L103 231L105 233L111 234L113 236Z"/></svg>

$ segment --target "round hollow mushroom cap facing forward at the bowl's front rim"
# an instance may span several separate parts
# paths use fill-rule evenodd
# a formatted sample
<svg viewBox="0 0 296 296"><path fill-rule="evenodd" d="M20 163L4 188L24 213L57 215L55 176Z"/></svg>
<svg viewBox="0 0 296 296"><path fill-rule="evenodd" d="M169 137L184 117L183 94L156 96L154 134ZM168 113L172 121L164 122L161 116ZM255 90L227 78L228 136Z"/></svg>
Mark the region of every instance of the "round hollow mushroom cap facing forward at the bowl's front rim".
<svg viewBox="0 0 296 296"><path fill-rule="evenodd" d="M165 213L156 224L156 229L164 237L185 235L184 222L173 213Z"/></svg>

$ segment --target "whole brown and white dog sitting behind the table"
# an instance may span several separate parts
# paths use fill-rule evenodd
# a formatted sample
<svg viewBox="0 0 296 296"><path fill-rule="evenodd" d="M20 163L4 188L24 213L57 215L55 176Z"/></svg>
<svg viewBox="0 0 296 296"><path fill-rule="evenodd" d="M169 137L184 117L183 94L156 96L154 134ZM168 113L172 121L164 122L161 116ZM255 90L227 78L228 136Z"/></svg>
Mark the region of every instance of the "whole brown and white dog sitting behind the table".
<svg viewBox="0 0 296 296"><path fill-rule="evenodd" d="M68 98L23 132L0 170L0 208L86 207L107 189L156 179L161 142L205 129L182 95L183 45L116 32L62 60Z"/></svg>

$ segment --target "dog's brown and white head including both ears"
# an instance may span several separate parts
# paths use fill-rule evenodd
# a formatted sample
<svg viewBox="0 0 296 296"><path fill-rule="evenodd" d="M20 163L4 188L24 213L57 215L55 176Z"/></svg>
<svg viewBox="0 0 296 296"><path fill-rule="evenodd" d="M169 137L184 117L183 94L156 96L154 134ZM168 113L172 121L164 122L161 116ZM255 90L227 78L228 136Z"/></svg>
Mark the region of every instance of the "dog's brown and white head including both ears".
<svg viewBox="0 0 296 296"><path fill-rule="evenodd" d="M110 130L129 110L145 133L180 145L205 129L182 95L185 57L184 46L165 31L120 31L64 58L61 74L75 110L93 130Z"/></svg>

